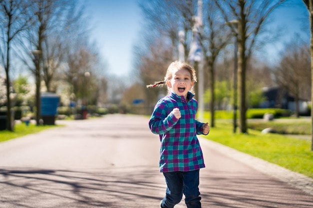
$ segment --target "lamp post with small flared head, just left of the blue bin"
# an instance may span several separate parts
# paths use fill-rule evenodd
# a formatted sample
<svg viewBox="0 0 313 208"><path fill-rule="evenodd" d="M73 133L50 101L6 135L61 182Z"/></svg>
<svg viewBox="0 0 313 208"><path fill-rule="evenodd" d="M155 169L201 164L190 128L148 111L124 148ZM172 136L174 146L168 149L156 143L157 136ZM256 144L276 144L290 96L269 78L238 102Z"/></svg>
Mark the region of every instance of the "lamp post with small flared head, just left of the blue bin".
<svg viewBox="0 0 313 208"><path fill-rule="evenodd" d="M34 56L35 62L35 80L36 80L36 125L39 126L40 120L40 55L41 50L33 50L32 54Z"/></svg>

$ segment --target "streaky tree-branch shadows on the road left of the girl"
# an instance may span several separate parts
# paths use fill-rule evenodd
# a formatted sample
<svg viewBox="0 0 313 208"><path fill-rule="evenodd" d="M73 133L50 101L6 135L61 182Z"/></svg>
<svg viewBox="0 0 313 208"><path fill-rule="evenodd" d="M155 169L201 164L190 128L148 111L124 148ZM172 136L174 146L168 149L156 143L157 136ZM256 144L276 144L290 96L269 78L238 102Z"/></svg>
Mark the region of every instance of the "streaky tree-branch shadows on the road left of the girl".
<svg viewBox="0 0 313 208"><path fill-rule="evenodd" d="M88 171L2 168L0 190L5 192L0 204L1 208L130 208L141 201L153 206L164 190L160 177L157 170L140 172L140 167Z"/></svg>

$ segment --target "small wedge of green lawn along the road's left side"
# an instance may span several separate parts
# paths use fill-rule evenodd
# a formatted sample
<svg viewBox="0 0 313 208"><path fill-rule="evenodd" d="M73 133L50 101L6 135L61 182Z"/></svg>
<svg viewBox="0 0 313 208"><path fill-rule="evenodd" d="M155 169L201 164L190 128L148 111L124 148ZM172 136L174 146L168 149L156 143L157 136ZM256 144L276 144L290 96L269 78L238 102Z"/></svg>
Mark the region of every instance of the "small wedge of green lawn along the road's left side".
<svg viewBox="0 0 313 208"><path fill-rule="evenodd" d="M10 132L10 131L0 131L0 142L6 141L6 140L10 140L10 139L14 139L17 137L22 137L25 136L27 134L33 134L33 133L37 133L52 127L56 127L56 126L36 126L35 124L29 124L29 126L26 126L23 123L18 123L14 125L14 131Z"/></svg>

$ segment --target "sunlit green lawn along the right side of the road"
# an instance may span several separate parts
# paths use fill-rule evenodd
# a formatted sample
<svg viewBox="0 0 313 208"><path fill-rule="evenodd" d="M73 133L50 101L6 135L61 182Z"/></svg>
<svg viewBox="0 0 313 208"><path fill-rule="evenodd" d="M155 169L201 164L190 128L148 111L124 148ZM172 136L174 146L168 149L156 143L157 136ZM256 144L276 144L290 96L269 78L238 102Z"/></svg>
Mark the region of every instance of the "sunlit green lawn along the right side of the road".
<svg viewBox="0 0 313 208"><path fill-rule="evenodd" d="M251 129L233 134L230 120L218 119L215 124L205 138L313 178L311 141Z"/></svg>

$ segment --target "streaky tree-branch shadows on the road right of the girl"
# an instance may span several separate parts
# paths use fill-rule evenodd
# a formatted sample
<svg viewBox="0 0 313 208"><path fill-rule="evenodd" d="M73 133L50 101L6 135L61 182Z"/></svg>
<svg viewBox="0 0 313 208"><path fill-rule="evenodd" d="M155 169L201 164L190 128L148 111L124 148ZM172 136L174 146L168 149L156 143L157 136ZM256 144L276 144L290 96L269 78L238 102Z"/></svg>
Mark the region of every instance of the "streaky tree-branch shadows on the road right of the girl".
<svg viewBox="0 0 313 208"><path fill-rule="evenodd" d="M207 171L207 170L206 170ZM202 172L203 173L203 172ZM244 177L242 177L244 176ZM200 181L204 207L209 208L311 208L313 197L303 196L261 173L207 171ZM292 196L291 198L286 198Z"/></svg>

